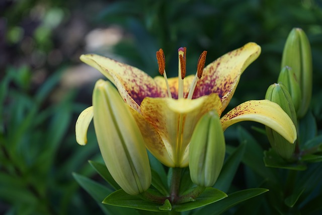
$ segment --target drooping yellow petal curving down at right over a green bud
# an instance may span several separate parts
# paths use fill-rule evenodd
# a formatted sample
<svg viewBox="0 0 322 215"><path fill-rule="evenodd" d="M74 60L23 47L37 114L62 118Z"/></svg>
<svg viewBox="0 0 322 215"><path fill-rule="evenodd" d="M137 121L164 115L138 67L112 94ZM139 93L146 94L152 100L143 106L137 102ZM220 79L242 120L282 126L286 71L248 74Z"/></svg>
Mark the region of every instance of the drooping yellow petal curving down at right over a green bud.
<svg viewBox="0 0 322 215"><path fill-rule="evenodd" d="M221 118L222 128L240 121L260 122L294 143L296 128L290 117L276 103L269 100L253 100L238 105Z"/></svg>

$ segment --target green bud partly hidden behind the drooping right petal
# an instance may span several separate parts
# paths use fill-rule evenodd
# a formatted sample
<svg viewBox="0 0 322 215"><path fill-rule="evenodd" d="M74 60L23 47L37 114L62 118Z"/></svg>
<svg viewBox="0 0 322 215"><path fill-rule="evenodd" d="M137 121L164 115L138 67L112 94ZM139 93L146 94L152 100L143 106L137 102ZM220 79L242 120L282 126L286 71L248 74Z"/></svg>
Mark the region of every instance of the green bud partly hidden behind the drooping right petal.
<svg viewBox="0 0 322 215"><path fill-rule="evenodd" d="M292 98L287 89L282 84L271 85L266 92L265 99L277 103L292 119L296 127L296 113ZM267 126L266 133L275 152L284 159L290 159L294 153L295 144L293 142L287 141L279 133Z"/></svg>

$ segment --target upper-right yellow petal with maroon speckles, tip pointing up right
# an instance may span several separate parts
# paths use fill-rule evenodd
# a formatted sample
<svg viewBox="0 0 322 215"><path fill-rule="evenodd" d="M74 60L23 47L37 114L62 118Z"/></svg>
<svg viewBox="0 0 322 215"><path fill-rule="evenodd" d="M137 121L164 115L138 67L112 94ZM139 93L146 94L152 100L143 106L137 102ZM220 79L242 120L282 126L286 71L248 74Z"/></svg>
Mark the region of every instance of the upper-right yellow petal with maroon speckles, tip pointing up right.
<svg viewBox="0 0 322 215"><path fill-rule="evenodd" d="M224 110L235 92L240 75L260 53L259 45L248 43L207 65L203 70L202 78L197 83L193 98L217 93Z"/></svg>

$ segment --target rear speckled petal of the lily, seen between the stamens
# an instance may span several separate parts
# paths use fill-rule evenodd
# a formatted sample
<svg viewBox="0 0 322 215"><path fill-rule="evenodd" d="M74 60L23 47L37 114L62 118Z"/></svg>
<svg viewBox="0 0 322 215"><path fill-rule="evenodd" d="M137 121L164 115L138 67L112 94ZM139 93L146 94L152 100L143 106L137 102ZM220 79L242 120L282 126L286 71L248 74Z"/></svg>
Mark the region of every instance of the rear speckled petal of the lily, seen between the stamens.
<svg viewBox="0 0 322 215"><path fill-rule="evenodd" d="M187 98L189 94L190 85L194 77L195 77L194 75L190 75L184 79L184 86L183 86L184 98ZM163 89L164 92L167 92L167 85L164 77L156 76L154 78L154 81L161 89ZM178 89L179 89L178 77L169 78L168 83L169 83L172 98L178 99Z"/></svg>

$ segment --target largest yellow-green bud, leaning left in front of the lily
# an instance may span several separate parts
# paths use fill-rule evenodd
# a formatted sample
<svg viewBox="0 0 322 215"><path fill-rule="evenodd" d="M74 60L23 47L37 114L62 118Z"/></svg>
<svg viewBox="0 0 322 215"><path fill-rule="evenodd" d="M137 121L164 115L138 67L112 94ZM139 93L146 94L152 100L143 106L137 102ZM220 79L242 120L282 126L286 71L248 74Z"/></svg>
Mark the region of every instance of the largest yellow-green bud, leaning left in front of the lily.
<svg viewBox="0 0 322 215"><path fill-rule="evenodd" d="M93 92L94 127L105 165L130 195L147 190L151 170L144 140L129 106L109 82L97 81Z"/></svg>

